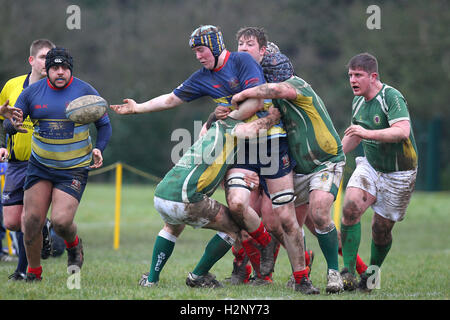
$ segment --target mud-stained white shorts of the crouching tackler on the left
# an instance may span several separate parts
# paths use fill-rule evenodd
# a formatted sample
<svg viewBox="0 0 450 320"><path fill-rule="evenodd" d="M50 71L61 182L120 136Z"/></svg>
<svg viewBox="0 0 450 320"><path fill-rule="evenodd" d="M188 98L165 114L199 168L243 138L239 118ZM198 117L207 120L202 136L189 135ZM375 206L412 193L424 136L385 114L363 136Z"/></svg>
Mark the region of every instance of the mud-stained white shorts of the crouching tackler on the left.
<svg viewBox="0 0 450 320"><path fill-rule="evenodd" d="M153 204L164 222L168 224L187 224L201 228L210 223L220 211L220 203L205 196L194 203L176 202L154 197Z"/></svg>

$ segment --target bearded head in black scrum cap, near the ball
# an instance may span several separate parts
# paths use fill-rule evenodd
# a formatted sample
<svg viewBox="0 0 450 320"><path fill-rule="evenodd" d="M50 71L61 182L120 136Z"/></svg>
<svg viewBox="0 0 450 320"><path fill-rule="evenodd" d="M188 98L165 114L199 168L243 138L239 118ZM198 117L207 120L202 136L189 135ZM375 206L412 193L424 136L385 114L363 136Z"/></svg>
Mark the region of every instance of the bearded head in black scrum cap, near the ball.
<svg viewBox="0 0 450 320"><path fill-rule="evenodd" d="M45 57L45 69L50 83L56 88L63 88L72 77L73 58L67 49L53 48Z"/></svg>

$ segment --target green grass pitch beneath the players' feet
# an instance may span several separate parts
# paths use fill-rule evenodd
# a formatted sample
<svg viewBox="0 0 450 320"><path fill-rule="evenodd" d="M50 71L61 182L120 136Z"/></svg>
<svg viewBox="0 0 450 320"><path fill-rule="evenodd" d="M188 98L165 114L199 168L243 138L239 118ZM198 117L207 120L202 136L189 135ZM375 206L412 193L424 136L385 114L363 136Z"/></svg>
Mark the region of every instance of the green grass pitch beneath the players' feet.
<svg viewBox="0 0 450 320"><path fill-rule="evenodd" d="M153 187L124 185L122 189L120 248L113 249L114 185L88 184L75 221L83 238L85 262L79 282L66 271L66 254L42 262L40 283L9 282L16 262L0 262L1 300L448 300L450 293L450 194L415 192L406 218L393 230L393 246L381 275L380 289L326 295L326 262L317 240L307 231L307 247L314 250L311 279L321 289L304 296L286 288L291 269L281 248L274 283L267 287L227 286L192 289L185 285L214 231L186 227L167 262L159 286L142 288L138 280L148 272L155 237L162 220L153 208ZM223 192L215 198L224 202ZM372 211L362 219L360 255L368 263ZM232 270L231 252L211 270L219 280ZM342 258L340 258L342 267ZM69 283L69 286L68 286ZM79 284L79 289L73 288ZM72 287L73 289L70 289Z"/></svg>

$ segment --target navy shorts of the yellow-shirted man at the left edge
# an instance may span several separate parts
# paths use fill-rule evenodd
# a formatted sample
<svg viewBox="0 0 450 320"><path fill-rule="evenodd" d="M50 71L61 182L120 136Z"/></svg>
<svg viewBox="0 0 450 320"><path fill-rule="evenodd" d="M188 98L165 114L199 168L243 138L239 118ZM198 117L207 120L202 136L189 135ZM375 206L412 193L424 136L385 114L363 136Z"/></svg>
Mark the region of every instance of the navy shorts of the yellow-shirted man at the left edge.
<svg viewBox="0 0 450 320"><path fill-rule="evenodd" d="M2 204L4 206L23 205L23 185L27 176L28 161L12 161L5 172Z"/></svg>

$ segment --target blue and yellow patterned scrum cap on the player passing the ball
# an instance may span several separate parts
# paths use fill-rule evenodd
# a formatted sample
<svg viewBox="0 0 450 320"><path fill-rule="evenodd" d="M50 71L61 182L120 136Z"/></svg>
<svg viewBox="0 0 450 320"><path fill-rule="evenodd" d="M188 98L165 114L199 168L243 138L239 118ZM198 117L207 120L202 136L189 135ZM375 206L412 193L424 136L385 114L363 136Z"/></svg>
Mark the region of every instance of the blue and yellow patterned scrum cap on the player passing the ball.
<svg viewBox="0 0 450 320"><path fill-rule="evenodd" d="M225 43L223 42L222 32L218 27L212 25L200 26L195 29L189 38L189 46L192 49L206 47L211 50L212 56L214 57L215 61L213 68L217 66L219 56L223 52L223 50L225 50ZM204 63L202 64L205 65Z"/></svg>

